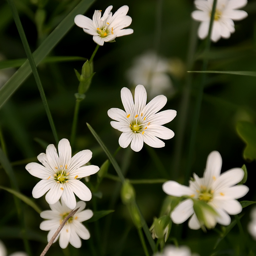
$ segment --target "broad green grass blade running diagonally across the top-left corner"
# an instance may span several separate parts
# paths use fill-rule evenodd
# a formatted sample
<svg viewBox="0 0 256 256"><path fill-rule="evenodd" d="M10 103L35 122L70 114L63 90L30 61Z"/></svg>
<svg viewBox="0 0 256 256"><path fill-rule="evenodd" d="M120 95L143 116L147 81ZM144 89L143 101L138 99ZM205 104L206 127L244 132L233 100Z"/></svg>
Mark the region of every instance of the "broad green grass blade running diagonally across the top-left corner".
<svg viewBox="0 0 256 256"><path fill-rule="evenodd" d="M76 7L65 17L64 20L52 31L44 42L33 53L35 64L38 65L48 53L57 45L57 43L67 34L69 29L75 24L74 18L78 14L83 14L88 10L95 0L82 0ZM82 11L81 11L82 10ZM11 97L11 95L19 88L19 86L31 74L29 61L25 63L15 72L15 74L0 89L0 108Z"/></svg>

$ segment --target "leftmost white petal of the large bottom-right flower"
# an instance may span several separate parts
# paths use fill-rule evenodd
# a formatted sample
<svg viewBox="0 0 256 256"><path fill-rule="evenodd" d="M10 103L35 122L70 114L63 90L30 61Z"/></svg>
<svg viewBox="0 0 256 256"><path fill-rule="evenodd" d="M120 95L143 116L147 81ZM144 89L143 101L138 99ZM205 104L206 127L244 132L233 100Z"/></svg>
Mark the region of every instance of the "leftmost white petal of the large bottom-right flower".
<svg viewBox="0 0 256 256"><path fill-rule="evenodd" d="M194 191L176 181L166 181L163 183L163 191L170 196L191 196Z"/></svg>

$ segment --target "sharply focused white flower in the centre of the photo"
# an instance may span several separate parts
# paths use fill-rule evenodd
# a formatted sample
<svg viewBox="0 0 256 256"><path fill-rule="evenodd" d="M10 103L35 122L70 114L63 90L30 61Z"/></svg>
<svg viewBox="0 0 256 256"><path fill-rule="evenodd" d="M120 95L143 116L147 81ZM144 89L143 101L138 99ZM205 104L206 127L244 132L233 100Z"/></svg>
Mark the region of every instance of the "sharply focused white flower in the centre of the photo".
<svg viewBox="0 0 256 256"><path fill-rule="evenodd" d="M124 110L111 108L108 116L116 121L111 121L113 128L123 132L119 138L119 145L123 148L131 143L132 150L138 152L143 147L143 142L151 147L164 147L160 139L171 139L174 132L162 124L169 123L176 116L176 110L164 110L157 113L165 106L167 98L158 95L147 105L147 92L143 85L135 88L134 102L131 91L124 87L121 90L121 100ZM158 137L158 138L157 138Z"/></svg>

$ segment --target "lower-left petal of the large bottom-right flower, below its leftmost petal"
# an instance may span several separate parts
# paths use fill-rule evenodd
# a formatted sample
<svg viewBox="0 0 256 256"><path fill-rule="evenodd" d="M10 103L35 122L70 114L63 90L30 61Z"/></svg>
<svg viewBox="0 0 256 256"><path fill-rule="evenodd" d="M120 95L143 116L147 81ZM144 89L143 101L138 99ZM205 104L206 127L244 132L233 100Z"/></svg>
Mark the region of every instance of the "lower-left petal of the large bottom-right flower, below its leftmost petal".
<svg viewBox="0 0 256 256"><path fill-rule="evenodd" d="M180 224L186 221L193 213L193 201L186 199L174 208L171 213L171 218L174 223Z"/></svg>

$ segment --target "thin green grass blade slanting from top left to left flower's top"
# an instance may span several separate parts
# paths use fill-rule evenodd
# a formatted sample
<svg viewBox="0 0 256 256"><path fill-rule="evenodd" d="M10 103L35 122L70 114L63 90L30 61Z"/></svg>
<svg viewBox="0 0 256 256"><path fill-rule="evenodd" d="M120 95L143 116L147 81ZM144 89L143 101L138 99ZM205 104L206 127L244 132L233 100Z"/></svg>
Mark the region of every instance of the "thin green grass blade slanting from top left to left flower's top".
<svg viewBox="0 0 256 256"><path fill-rule="evenodd" d="M27 54L27 58L29 59L29 64L30 64L30 67L32 69L33 75L35 77L35 82L37 83L38 90L40 92L42 102L44 104L45 111L46 111L46 114L47 114L47 117L48 117L48 120L49 120L49 123L50 123L50 127L52 128L52 132L53 132L55 142L56 142L56 144L58 144L59 139L58 139L58 136L57 136L55 125L53 123L52 114L50 113L50 109L49 109L49 106L48 106L48 103L47 103L47 100L46 100L46 97L45 97L44 89L42 87L42 83L41 83L41 80L39 78L37 67L35 65L35 61L34 61L32 53L31 53L31 50L29 48L29 44L27 42L25 32L24 32L22 24L20 22L18 11L15 7L15 4L14 4L13 0L7 0L7 1L8 1L8 4L10 5L11 11L12 11L12 16L14 18L15 24L16 24L17 29L19 31L19 35L20 35L22 44L24 46L25 52Z"/></svg>

